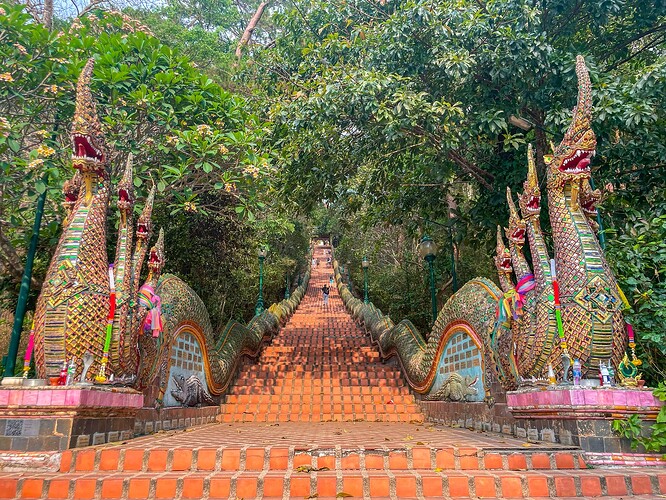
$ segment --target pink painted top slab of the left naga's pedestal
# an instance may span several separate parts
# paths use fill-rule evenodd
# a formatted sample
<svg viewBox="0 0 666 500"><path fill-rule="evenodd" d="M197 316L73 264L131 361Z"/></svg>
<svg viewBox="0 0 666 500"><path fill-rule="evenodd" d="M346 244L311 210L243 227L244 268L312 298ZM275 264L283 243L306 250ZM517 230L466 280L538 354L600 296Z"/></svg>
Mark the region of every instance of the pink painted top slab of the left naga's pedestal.
<svg viewBox="0 0 666 500"><path fill-rule="evenodd" d="M143 394L126 388L3 387L0 411L17 408L142 408Z"/></svg>

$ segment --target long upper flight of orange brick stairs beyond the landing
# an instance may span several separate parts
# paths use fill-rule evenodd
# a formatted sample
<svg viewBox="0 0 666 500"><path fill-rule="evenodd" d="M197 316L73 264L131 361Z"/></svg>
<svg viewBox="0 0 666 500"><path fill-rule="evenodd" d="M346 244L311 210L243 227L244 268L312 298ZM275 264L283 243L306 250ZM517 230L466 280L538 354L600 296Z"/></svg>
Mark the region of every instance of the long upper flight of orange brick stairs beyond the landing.
<svg viewBox="0 0 666 500"><path fill-rule="evenodd" d="M243 366L221 422L423 422L400 371L380 362L335 285L324 307L327 251L316 247L306 295L259 361Z"/></svg>

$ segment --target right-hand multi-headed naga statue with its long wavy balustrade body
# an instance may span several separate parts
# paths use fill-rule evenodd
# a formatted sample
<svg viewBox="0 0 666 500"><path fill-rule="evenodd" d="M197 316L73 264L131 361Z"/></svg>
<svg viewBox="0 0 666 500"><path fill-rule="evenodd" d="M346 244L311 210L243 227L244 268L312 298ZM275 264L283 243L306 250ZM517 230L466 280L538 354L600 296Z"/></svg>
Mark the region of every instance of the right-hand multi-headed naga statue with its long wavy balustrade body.
<svg viewBox="0 0 666 500"><path fill-rule="evenodd" d="M348 309L364 322L384 357L398 357L411 387L428 399L446 392L441 389L456 373L465 380L477 377L477 400L492 402L497 383L503 390L515 389L544 378L548 365L566 378L573 359L580 360L584 373L594 375L599 362L610 360L617 367L625 355L619 291L595 234L600 193L590 186L590 160L596 137L592 87L582 56L576 59L576 74L573 118L547 161L552 260L541 232L541 192L530 146L527 180L518 197L520 214L507 189L508 248L499 227L497 231L495 266L501 289L485 278L466 283L444 304L425 340L411 322L395 325L374 305L353 297L336 266ZM526 238L531 264L523 255Z"/></svg>

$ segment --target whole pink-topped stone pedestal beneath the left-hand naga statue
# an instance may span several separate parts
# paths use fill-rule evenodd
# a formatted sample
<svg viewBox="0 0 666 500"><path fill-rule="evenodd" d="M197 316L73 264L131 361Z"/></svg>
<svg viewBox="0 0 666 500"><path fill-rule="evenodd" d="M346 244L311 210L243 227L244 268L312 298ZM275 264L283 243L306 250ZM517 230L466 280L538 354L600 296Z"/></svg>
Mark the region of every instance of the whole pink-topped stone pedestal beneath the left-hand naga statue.
<svg viewBox="0 0 666 500"><path fill-rule="evenodd" d="M57 451L130 439L143 395L110 387L0 389L0 450Z"/></svg>

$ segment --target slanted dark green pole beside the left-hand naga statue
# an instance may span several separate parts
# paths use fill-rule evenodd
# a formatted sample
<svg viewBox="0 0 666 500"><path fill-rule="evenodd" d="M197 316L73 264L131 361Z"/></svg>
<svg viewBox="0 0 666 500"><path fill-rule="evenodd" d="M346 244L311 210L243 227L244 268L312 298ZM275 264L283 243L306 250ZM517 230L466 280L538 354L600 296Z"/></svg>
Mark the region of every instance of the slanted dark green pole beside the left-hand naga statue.
<svg viewBox="0 0 666 500"><path fill-rule="evenodd" d="M23 269L23 278L21 279L21 288L19 291L18 302L16 303L16 312L14 313L14 325L12 326L12 335L9 339L9 349L7 351L7 361L5 362L5 377L13 377L16 367L16 355L21 340L21 329L23 328L23 318L28 306L28 294L30 293L30 280L32 279L32 265L35 262L35 253L37 251L37 242L39 240L39 228L42 225L42 215L44 215L44 202L46 201L46 188L48 185L48 174L42 179L44 191L37 198L37 211L35 212L35 223L32 226L32 236L28 246L28 255ZM33 337L34 338L34 337ZM30 353L32 355L32 352ZM30 362L28 361L28 364Z"/></svg>

